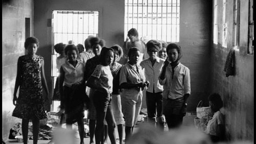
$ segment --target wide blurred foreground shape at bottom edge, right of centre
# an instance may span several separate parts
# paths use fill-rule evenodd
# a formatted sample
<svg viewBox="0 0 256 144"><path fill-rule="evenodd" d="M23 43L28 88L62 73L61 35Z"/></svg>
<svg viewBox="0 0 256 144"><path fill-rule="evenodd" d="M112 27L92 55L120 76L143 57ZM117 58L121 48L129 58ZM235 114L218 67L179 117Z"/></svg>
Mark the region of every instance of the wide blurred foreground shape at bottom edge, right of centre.
<svg viewBox="0 0 256 144"><path fill-rule="evenodd" d="M141 124L138 132L125 142L125 144L132 143L208 144L212 142L208 135L194 127L180 127L169 132L162 132L152 125L145 123Z"/></svg>

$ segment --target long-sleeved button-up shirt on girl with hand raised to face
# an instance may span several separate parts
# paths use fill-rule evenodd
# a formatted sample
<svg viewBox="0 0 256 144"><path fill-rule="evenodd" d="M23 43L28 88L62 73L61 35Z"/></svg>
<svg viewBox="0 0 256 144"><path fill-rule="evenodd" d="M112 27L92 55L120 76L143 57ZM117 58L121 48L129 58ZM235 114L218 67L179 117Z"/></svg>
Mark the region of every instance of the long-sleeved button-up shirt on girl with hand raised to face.
<svg viewBox="0 0 256 144"><path fill-rule="evenodd" d="M162 70L161 73L162 74ZM160 75L161 76L161 75ZM173 70L170 64L166 67L165 78L160 79L159 83L163 85L163 98L179 99L184 94L190 94L190 73L189 69L183 64L179 63Z"/></svg>

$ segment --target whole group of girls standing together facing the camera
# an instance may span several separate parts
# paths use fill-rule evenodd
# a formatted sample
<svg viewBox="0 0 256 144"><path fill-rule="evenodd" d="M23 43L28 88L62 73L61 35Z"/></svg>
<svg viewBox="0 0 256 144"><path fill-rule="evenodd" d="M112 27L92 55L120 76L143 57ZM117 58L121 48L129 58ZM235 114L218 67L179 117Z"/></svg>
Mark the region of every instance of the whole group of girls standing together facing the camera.
<svg viewBox="0 0 256 144"><path fill-rule="evenodd" d="M44 59L35 54L38 43L34 37L26 39L28 54L18 59L13 98L16 105L13 116L23 119L23 128L28 127L29 119L32 119L34 143L39 119L46 118L42 86L49 94ZM123 55L119 45L106 47L104 40L98 37L87 38L84 45L87 51L80 54L74 44L65 47L67 60L60 66L58 78L61 112L66 115L68 128L77 122L80 143L83 143L85 109L88 109L90 119L90 143L94 142L94 133L95 142L103 143L106 130L111 143L116 143L116 125L122 143L123 124L125 140L128 140L137 123L144 89L149 122L157 122L163 130L164 114L169 128L181 125L190 94L190 75L189 69L179 61L179 45L170 43L163 49L158 40L150 40L146 43L149 58L139 63L140 50L131 47L127 53L129 60L124 65L118 63ZM164 59L157 55L160 50L163 52L159 56ZM104 125L108 125L107 129ZM23 129L23 136L27 143L28 129Z"/></svg>

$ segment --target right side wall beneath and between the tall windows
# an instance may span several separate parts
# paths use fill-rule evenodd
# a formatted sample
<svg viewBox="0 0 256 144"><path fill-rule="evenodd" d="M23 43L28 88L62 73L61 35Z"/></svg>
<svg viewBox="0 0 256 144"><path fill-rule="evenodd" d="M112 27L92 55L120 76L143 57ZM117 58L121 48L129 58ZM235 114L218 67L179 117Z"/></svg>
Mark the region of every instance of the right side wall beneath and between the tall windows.
<svg viewBox="0 0 256 144"><path fill-rule="evenodd" d="M232 48L233 1L226 5L228 23L227 47L222 47L222 1L218 11L218 44L211 47L211 92L221 94L224 107L227 138L231 140L254 140L254 56L247 54L248 1L241 2L240 44L235 51L235 75L225 76L224 66ZM213 27L212 27L213 29Z"/></svg>

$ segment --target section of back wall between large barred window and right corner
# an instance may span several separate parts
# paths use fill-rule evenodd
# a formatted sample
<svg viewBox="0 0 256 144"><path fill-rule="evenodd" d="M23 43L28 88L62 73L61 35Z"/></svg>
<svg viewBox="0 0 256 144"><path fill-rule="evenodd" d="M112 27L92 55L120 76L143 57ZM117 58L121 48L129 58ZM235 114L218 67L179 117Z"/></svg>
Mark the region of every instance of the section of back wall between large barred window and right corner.
<svg viewBox="0 0 256 144"><path fill-rule="evenodd" d="M200 100L208 105L209 95L209 41L211 34L211 1L180 1L181 63L190 69L191 95L188 111L196 111Z"/></svg>

